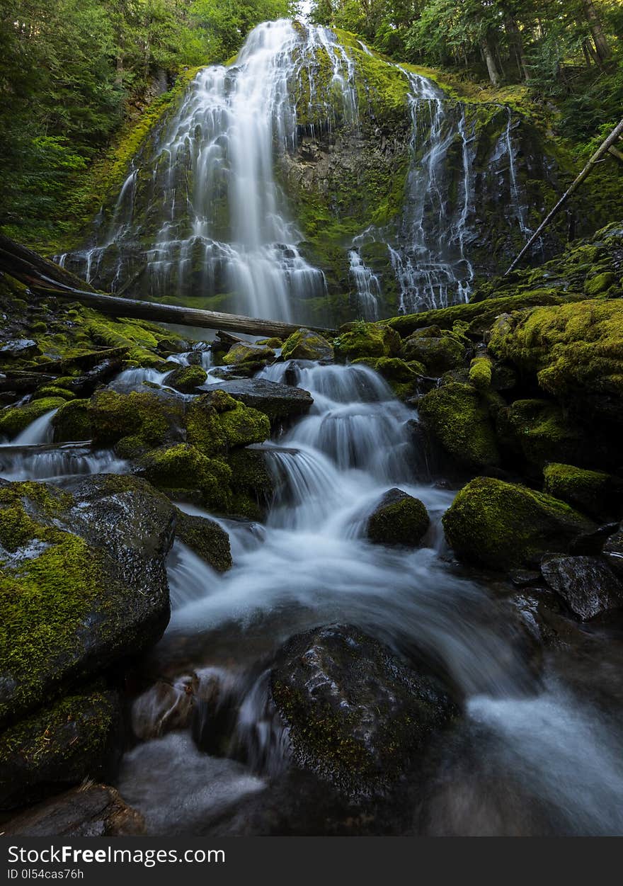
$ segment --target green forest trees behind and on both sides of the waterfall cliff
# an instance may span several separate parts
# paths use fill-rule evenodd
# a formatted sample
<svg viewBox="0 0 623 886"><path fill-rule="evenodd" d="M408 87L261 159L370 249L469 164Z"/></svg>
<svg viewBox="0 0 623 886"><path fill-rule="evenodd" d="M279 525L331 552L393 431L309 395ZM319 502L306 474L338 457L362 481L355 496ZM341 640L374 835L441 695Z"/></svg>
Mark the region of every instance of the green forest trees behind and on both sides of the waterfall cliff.
<svg viewBox="0 0 623 886"><path fill-rule="evenodd" d="M2 0L0 229L48 252L74 237L196 67L297 12L293 0ZM578 166L623 113L623 0L315 0L310 18L540 104Z"/></svg>

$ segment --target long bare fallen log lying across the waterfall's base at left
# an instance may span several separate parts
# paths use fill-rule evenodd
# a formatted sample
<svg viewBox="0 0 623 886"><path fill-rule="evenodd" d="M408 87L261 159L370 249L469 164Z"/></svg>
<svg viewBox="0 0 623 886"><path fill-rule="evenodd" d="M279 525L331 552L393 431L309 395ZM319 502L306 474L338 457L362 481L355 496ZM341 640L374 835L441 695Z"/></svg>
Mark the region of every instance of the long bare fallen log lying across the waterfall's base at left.
<svg viewBox="0 0 623 886"><path fill-rule="evenodd" d="M0 235L0 270L27 284L36 295L71 299L87 307L94 307L102 314L117 317L227 330L264 338L287 338L300 329L299 324L282 323L278 320L224 314L222 311L206 311L199 307L162 305L160 302L125 299L118 295L97 292L82 281L76 284L77 278L73 274L3 235ZM335 330L324 329L322 326L310 326L308 329L323 335L335 334Z"/></svg>

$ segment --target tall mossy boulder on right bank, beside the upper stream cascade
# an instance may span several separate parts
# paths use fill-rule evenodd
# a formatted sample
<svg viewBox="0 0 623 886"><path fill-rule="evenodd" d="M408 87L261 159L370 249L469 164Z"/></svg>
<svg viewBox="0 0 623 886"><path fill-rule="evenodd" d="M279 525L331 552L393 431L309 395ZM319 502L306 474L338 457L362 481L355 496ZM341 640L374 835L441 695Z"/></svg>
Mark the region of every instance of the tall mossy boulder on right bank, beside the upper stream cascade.
<svg viewBox="0 0 623 886"><path fill-rule="evenodd" d="M418 411L426 430L457 464L478 470L500 462L487 403L471 385L434 388L419 400Z"/></svg>

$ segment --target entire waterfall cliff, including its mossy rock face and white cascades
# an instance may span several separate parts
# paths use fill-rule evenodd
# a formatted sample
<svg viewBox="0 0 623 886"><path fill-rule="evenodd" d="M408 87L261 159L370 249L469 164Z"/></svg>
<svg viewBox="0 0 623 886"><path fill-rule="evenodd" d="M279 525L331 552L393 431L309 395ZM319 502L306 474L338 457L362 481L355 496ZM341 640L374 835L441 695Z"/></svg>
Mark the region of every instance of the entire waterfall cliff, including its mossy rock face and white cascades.
<svg viewBox="0 0 623 886"><path fill-rule="evenodd" d="M202 69L85 248L98 287L296 323L466 300L551 197L541 136L352 35L280 20ZM541 244L548 249L551 244Z"/></svg>

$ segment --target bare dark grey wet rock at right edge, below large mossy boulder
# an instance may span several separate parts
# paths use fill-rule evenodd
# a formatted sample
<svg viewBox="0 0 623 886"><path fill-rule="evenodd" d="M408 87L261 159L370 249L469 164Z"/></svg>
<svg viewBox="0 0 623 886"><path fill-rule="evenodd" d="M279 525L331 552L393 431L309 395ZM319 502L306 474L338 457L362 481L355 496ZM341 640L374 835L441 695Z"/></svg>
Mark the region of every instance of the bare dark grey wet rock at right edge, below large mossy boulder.
<svg viewBox="0 0 623 886"><path fill-rule="evenodd" d="M601 557L545 556L541 572L582 621L623 608L623 584Z"/></svg>

